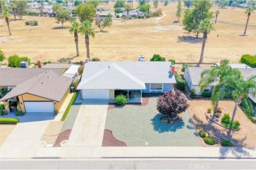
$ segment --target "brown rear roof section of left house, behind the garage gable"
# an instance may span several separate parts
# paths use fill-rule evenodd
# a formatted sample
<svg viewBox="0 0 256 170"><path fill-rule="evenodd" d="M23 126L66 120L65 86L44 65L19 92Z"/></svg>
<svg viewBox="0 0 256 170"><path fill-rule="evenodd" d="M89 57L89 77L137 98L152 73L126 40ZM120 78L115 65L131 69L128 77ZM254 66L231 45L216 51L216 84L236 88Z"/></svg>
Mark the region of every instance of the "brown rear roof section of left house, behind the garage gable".
<svg viewBox="0 0 256 170"><path fill-rule="evenodd" d="M33 76L49 70L44 68L0 68L0 86L17 86ZM57 75L60 75L62 71L62 69L51 70Z"/></svg>

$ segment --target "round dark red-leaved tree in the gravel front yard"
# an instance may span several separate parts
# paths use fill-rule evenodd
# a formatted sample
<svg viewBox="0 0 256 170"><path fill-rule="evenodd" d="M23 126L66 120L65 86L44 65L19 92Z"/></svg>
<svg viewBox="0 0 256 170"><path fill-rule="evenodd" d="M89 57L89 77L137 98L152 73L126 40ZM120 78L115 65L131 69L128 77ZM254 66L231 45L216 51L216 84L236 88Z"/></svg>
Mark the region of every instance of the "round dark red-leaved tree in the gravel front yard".
<svg viewBox="0 0 256 170"><path fill-rule="evenodd" d="M158 99L157 109L161 114L169 118L175 118L181 112L188 109L189 104L186 97L179 90L177 92L165 92Z"/></svg>

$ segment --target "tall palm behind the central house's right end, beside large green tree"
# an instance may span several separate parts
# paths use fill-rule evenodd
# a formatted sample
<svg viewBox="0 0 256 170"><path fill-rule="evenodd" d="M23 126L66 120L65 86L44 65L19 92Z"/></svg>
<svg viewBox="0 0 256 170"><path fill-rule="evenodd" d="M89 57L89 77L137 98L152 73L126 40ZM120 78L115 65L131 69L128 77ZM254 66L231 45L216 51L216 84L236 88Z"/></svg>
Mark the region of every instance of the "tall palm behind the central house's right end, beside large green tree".
<svg viewBox="0 0 256 170"><path fill-rule="evenodd" d="M203 53L204 53L204 47L205 47L205 42L207 39L207 35L214 30L213 24L210 22L209 19L205 19L200 23L198 31L203 33L203 44L202 44L202 51L201 51L201 56L199 63L202 63L203 61Z"/></svg>

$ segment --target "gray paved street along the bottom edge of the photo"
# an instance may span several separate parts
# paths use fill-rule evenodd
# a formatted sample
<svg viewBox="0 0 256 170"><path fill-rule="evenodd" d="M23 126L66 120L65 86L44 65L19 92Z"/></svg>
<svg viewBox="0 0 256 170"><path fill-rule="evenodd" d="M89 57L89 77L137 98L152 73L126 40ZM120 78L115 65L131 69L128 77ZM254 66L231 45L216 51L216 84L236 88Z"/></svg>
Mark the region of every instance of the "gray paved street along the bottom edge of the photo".
<svg viewBox="0 0 256 170"><path fill-rule="evenodd" d="M100 159L3 160L1 169L255 169L255 160Z"/></svg>

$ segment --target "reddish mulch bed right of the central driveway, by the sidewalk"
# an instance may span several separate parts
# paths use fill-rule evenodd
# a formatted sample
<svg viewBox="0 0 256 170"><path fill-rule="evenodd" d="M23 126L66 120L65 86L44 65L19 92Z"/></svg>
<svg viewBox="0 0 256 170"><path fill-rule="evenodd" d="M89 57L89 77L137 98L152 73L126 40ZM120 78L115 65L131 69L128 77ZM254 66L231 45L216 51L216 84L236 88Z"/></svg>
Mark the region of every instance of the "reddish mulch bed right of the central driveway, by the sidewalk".
<svg viewBox="0 0 256 170"><path fill-rule="evenodd" d="M127 146L123 141L119 141L114 137L112 131L104 129L102 146Z"/></svg>

